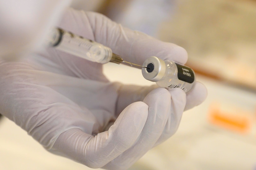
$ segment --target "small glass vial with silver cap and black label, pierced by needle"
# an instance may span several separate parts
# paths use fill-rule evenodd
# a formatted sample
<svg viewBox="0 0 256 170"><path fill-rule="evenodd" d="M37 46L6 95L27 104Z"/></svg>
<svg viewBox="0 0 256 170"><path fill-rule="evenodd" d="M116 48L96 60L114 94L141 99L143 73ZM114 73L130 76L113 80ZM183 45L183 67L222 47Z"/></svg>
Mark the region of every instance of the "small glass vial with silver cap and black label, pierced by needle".
<svg viewBox="0 0 256 170"><path fill-rule="evenodd" d="M159 87L179 87L183 91L190 91L195 83L195 72L181 64L171 60L162 60L157 57L149 57L143 63L142 75L145 79L156 82Z"/></svg>

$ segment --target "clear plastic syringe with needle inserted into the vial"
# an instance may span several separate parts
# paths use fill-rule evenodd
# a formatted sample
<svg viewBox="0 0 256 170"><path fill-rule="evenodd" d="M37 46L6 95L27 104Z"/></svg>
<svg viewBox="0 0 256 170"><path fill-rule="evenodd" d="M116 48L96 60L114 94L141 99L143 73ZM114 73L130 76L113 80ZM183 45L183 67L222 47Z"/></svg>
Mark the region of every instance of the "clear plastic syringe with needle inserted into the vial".
<svg viewBox="0 0 256 170"><path fill-rule="evenodd" d="M127 63L129 65L143 67L131 62L126 62L119 55L112 53L109 47L99 44L95 41L88 40L82 36L67 32L61 28L52 29L48 36L48 43L55 49L73 54L86 60L98 63L113 62L116 64Z"/></svg>

